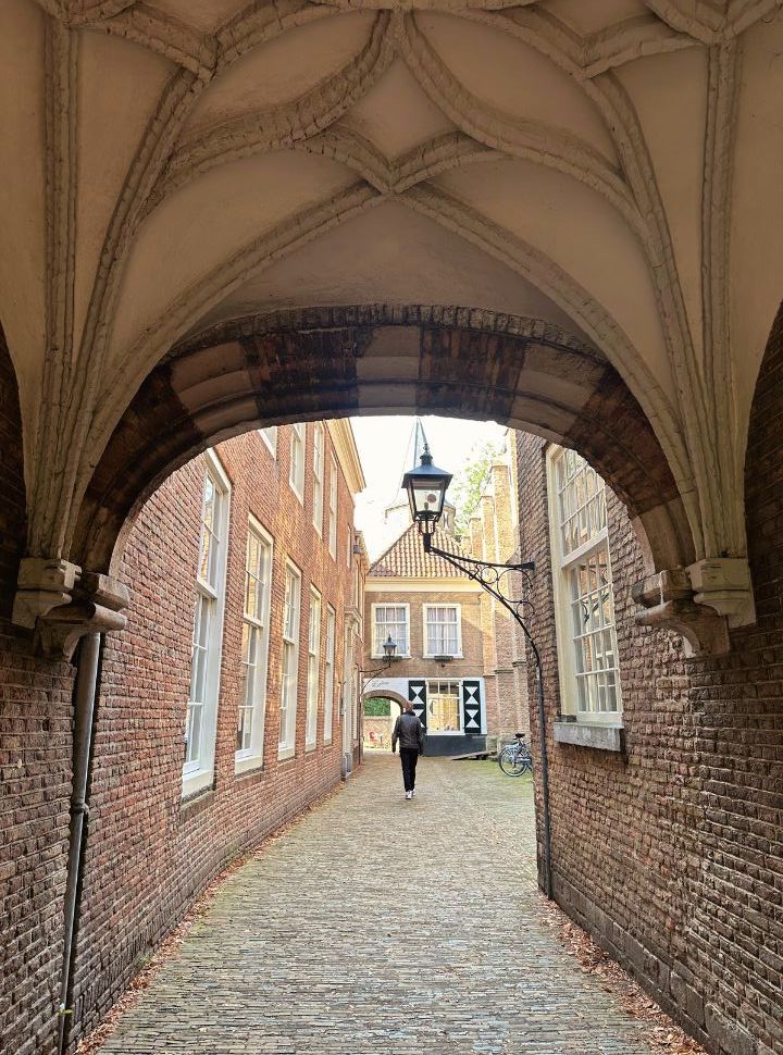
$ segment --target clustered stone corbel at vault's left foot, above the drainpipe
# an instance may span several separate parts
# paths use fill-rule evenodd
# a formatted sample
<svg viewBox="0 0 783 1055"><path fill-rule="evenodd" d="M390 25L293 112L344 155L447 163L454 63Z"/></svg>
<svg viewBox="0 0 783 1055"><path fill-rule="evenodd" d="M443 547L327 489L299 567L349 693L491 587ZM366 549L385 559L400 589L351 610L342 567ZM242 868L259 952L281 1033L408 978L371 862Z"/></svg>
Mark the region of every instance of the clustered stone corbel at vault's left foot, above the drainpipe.
<svg viewBox="0 0 783 1055"><path fill-rule="evenodd" d="M13 622L36 631L48 659L70 660L80 637L123 630L127 587L110 575L83 572L66 560L25 558L20 567Z"/></svg>

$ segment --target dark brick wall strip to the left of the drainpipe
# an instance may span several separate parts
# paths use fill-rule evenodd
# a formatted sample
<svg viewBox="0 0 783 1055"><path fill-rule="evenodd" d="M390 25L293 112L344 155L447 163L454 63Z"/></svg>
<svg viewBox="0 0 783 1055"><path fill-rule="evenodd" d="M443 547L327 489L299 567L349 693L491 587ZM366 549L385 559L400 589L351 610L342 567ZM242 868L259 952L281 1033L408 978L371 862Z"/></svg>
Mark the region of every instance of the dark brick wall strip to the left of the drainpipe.
<svg viewBox="0 0 783 1055"><path fill-rule="evenodd" d="M73 671L11 625L25 545L16 381L0 331L0 1051L49 1055L60 1000Z"/></svg>

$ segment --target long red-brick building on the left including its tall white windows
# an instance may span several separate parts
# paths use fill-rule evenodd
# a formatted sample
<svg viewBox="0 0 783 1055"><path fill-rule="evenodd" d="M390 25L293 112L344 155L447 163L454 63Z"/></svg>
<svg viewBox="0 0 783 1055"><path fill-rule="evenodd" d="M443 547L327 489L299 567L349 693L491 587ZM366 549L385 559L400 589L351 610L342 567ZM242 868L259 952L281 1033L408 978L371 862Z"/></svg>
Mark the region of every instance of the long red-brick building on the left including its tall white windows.
<svg viewBox="0 0 783 1055"><path fill-rule="evenodd" d="M348 422L281 425L190 461L130 530L128 632L102 659L74 1038L222 867L358 764L362 487Z"/></svg>

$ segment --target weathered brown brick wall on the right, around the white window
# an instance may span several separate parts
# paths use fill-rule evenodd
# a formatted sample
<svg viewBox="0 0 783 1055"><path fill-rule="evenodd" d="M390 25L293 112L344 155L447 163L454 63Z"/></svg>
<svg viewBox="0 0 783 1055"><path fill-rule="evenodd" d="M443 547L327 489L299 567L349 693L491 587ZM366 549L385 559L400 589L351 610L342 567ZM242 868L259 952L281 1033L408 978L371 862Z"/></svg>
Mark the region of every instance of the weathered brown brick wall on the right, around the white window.
<svg viewBox="0 0 783 1055"><path fill-rule="evenodd" d="M635 625L641 553L609 496L624 756L552 742L544 445L518 437L522 550L537 562L530 622L546 672L556 897L716 1055L783 1053L782 411L779 320L747 456L758 624L732 634L729 656L687 660L676 636ZM533 711L532 721L537 744Z"/></svg>

